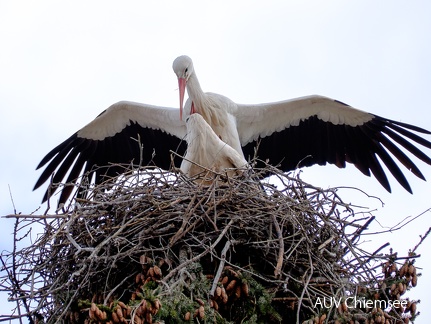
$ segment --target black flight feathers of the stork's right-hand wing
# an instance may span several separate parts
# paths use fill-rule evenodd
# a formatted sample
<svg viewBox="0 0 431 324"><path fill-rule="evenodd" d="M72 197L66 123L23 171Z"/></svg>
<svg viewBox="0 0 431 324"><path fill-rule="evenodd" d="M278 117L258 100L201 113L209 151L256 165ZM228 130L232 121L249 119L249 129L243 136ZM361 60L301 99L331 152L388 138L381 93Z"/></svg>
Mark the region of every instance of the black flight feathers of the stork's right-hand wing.
<svg viewBox="0 0 431 324"><path fill-rule="evenodd" d="M284 171L326 163L344 168L346 162L352 163L363 174L370 176L372 173L391 192L380 163L383 162L401 186L411 193L410 185L393 157L419 178L425 178L399 146L431 165L431 159L411 141L427 148L431 148L431 142L412 131L431 134L423 128L379 116L373 116L360 126L334 125L311 116L300 121L297 126L287 127L248 143L243 151L246 158L253 157L259 143L257 158L278 165ZM263 167L259 162L257 166Z"/></svg>

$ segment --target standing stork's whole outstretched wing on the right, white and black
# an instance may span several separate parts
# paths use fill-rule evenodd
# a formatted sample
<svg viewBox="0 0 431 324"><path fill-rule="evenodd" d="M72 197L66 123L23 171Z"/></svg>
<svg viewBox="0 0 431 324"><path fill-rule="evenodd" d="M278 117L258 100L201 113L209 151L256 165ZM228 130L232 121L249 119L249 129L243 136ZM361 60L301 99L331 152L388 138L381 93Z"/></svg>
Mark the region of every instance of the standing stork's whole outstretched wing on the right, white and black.
<svg viewBox="0 0 431 324"><path fill-rule="evenodd" d="M400 149L431 165L431 159L415 144L431 148L415 133L431 132L379 117L337 100L308 96L260 105L238 105L238 133L246 158L257 157L284 171L314 164L354 164L363 174L372 173L389 192L391 187L380 162L397 181L412 192L398 160L424 179L413 161ZM391 153L391 154L389 154Z"/></svg>

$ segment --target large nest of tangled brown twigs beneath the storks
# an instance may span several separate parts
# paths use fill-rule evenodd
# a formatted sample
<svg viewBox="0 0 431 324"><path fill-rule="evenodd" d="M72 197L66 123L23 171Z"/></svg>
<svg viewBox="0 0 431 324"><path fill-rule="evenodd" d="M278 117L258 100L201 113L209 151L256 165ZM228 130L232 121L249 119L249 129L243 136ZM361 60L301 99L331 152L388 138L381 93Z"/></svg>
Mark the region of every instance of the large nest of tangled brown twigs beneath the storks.
<svg viewBox="0 0 431 324"><path fill-rule="evenodd" d="M2 288L17 303L7 319L395 323L417 315L401 297L417 284L414 250L404 258L383 254L386 246L362 250L371 214L355 213L336 189L260 171L282 188L221 174L203 186L142 168L63 213L12 215L15 247L30 226L44 232L2 254ZM352 296L406 304L347 307Z"/></svg>

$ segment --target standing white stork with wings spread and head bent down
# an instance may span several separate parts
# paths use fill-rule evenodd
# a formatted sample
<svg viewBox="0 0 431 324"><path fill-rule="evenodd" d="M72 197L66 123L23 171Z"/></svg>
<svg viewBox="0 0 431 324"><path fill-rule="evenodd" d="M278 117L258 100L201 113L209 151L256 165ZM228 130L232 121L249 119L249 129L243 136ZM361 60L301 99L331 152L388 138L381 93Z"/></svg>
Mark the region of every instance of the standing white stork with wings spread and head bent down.
<svg viewBox="0 0 431 324"><path fill-rule="evenodd" d="M178 57L173 69L180 87L181 118L174 108L126 101L113 104L42 159L37 168L48 165L34 189L54 174L53 186L48 188L43 201L54 194L56 184L62 182L68 172L67 183L76 182L82 172L89 172L89 178L94 177L95 183L100 183L105 176L124 172L119 164L169 169L170 150L184 156L186 143L183 139L187 130L183 119L194 112L202 115L215 134L242 157L248 159L257 153L260 160L269 161L284 171L326 163L342 168L348 162L367 176L372 173L391 192L380 164L382 161L401 186L411 193L409 183L393 159L395 157L407 170L425 180L418 167L400 149L406 149L431 165L431 159L414 145L431 148L431 142L416 134L431 134L423 128L316 95L266 104L236 104L222 95L204 93L189 57ZM182 116L185 88L189 99L184 106L185 116ZM139 143L133 140L138 138ZM174 164L180 166L181 160L174 160ZM73 187L69 185L62 189L60 204L67 200Z"/></svg>

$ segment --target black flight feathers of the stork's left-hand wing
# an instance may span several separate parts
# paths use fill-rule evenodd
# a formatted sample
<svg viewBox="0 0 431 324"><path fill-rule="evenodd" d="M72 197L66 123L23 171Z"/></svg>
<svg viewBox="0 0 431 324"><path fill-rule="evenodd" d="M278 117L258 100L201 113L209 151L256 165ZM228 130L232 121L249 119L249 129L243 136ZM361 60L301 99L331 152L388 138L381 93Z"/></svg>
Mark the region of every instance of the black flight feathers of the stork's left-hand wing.
<svg viewBox="0 0 431 324"><path fill-rule="evenodd" d="M139 144L143 147L142 161ZM134 122L121 132L103 140L87 139L75 133L51 150L39 163L38 169L49 162L34 189L40 187L54 174L53 183L43 197L42 202L45 202L55 193L58 183L64 180L70 170L67 182L72 185L63 187L59 199L59 204L62 204L70 197L75 188L73 183L83 173L87 174L88 179L94 177L95 183L99 184L123 173L132 165L154 165L168 170L171 167L170 150L184 155L185 141ZM179 167L181 159L175 158L174 164Z"/></svg>

